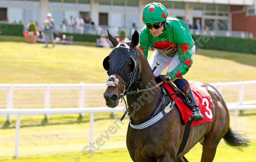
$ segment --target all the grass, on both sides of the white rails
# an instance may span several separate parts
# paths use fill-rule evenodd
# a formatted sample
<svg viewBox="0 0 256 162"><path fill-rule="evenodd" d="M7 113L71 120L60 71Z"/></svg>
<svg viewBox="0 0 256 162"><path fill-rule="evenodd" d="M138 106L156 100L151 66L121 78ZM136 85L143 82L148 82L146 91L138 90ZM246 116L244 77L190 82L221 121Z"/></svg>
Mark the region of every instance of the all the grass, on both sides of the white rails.
<svg viewBox="0 0 256 162"><path fill-rule="evenodd" d="M9 37L12 38L12 37ZM3 41L4 37L0 37ZM6 38L5 38L6 39ZM22 39L13 37L13 41ZM6 39L7 40L7 39ZM102 67L102 60L112 49L104 49L78 45L56 45L55 48L44 44L28 44L25 42L0 42L0 83L105 83L107 76ZM83 45L83 46L80 46ZM150 51L148 58L153 51ZM202 81L206 83L232 82L241 80L256 80L256 55L238 52L224 52L217 50L201 50L194 56L194 63L190 71L184 76L188 80ZM255 88L247 88L246 94L255 100ZM229 93L223 95L227 101L236 90L228 89ZM231 92L230 92L231 91ZM43 91L33 91L32 96L20 92L14 93L14 106L18 108L30 108L30 103L25 103L27 98L33 99L32 105L41 108L43 105ZM51 91L51 106L76 107L78 91L63 91L64 96ZM105 106L102 98L103 91L94 93L86 92L86 106ZM92 97L96 96L96 97ZM6 105L6 92L0 92L0 107ZM65 102L71 99L73 102ZM3 101L2 101L3 100ZM61 102L58 102L58 101ZM225 99L226 100L226 99ZM122 105L120 105L122 106ZM231 123L234 126L233 112L230 112ZM244 152L235 150L221 141L215 162L218 161L245 161L255 160L256 151L256 112L244 111L244 116L239 116L238 129L246 132L251 138L251 146ZM94 142L105 133L113 122L122 116L117 113L115 118L110 113L95 114ZM14 158L15 144L15 120L7 123L5 117L0 117L0 161L15 162L44 162L44 161L75 161L80 157L81 161L124 161L130 162L130 156L126 149L126 132L128 119L124 119L124 125L110 139L94 152L88 159L83 154L83 148L89 144L89 114L84 118L78 114L51 115L50 120L44 120L44 116L22 116L20 129L19 158ZM201 145L197 144L187 155L190 162L200 161Z"/></svg>

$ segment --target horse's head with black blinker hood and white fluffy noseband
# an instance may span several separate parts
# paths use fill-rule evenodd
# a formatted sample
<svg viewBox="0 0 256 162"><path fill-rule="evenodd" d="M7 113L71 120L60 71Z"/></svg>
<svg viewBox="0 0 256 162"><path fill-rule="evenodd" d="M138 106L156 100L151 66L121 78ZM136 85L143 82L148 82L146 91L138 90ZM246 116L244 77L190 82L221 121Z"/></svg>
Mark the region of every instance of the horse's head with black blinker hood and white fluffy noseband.
<svg viewBox="0 0 256 162"><path fill-rule="evenodd" d="M114 108L126 90L135 86L140 77L140 66L136 46L139 44L139 33L135 31L132 40L119 42L108 32L108 39L115 47L103 60L103 67L109 78L104 93L106 105Z"/></svg>

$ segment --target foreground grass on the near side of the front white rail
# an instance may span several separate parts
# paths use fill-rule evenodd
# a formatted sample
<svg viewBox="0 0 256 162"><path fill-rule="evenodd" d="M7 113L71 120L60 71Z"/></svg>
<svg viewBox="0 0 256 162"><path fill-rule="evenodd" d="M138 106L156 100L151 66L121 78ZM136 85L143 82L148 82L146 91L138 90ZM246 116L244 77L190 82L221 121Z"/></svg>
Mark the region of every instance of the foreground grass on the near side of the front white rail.
<svg viewBox="0 0 256 162"><path fill-rule="evenodd" d="M223 140L220 142L215 162L244 161L252 162L256 150L256 111L244 111L239 116L238 129L251 139L251 146L242 151L229 147ZM95 114L94 140L105 133L109 126L120 117L110 118L109 113ZM123 120L115 134L108 134L109 140L98 151L94 151L91 158L83 154L83 148L89 145L89 114L84 118L75 115L52 115L51 120L44 120L43 116L23 116L21 118L19 158L13 158L15 142L15 123L5 123L0 118L0 161L72 161L80 157L80 161L124 161L131 162L126 149L126 131L128 119ZM15 122L15 117L14 117ZM248 124L250 123L250 124ZM230 126L234 127L233 112L230 115ZM190 162L200 161L202 146L197 144L185 156Z"/></svg>

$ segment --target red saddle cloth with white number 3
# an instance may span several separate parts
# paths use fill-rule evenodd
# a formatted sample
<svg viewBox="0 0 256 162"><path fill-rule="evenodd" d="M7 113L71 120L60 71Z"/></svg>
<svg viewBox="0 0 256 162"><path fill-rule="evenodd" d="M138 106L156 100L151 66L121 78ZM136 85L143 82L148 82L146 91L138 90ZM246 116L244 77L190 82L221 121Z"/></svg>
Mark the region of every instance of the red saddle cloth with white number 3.
<svg viewBox="0 0 256 162"><path fill-rule="evenodd" d="M172 89L172 86L169 83L162 83L162 85L165 87L167 92L169 94L175 93L175 91ZM191 120L191 126L198 125L201 123L211 122L212 121L212 107L210 103L209 97L200 89L197 89L194 86L190 86L194 97L196 99L197 105L199 106L199 109L201 111L201 114L204 116L203 120L195 121ZM176 95L172 95L172 100L176 97ZM192 111L181 101L181 99L178 97L175 101L176 106L178 106L182 119L186 125L189 116L192 114Z"/></svg>

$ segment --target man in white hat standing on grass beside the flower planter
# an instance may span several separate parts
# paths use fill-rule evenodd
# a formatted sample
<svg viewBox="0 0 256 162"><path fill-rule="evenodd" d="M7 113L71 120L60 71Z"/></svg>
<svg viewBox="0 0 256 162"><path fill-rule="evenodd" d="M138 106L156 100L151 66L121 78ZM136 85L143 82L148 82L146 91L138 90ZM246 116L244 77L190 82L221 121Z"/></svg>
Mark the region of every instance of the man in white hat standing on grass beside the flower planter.
<svg viewBox="0 0 256 162"><path fill-rule="evenodd" d="M45 44L48 47L48 39L52 40L52 46L54 47L54 37L53 33L55 32L54 19L52 19L52 14L47 14L47 20L44 20L44 34L45 34Z"/></svg>

